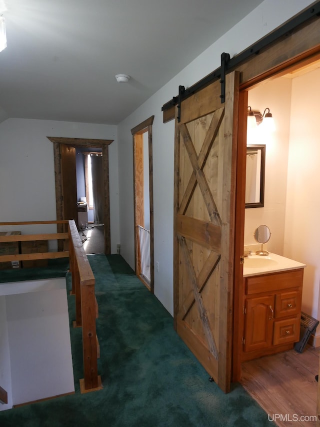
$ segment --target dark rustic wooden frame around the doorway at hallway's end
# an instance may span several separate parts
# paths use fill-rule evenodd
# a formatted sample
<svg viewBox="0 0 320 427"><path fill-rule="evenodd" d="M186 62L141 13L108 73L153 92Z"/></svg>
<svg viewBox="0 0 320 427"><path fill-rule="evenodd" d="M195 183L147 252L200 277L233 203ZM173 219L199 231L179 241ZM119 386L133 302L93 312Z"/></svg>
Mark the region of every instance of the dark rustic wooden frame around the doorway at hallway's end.
<svg viewBox="0 0 320 427"><path fill-rule="evenodd" d="M63 200L62 200L62 174L60 165L60 146L70 145L72 147L83 148L101 148L102 149L102 168L103 168L103 187L104 187L104 253L111 253L110 242L110 192L109 192L109 154L108 146L113 140L89 139L89 138L57 138L47 137L53 143L54 158L54 179L55 179L55 205L57 221L63 218ZM57 224L57 232L62 232L63 224Z"/></svg>

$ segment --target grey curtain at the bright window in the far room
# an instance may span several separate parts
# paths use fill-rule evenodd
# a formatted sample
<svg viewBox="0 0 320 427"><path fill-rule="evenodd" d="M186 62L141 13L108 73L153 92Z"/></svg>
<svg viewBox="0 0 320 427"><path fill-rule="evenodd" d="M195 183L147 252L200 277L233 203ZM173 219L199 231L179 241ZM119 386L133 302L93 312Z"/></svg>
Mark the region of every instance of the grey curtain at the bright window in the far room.
<svg viewBox="0 0 320 427"><path fill-rule="evenodd" d="M91 156L92 194L93 194L93 222L103 224L103 169L102 156Z"/></svg>

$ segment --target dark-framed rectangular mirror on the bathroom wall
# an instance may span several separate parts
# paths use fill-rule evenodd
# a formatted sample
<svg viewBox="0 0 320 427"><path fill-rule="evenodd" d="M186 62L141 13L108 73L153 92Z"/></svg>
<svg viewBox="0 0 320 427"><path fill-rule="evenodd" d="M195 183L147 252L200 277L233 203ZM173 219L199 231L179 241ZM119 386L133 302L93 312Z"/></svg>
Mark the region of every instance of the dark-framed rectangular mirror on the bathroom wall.
<svg viewBox="0 0 320 427"><path fill-rule="evenodd" d="M264 206L265 145L246 147L245 207Z"/></svg>

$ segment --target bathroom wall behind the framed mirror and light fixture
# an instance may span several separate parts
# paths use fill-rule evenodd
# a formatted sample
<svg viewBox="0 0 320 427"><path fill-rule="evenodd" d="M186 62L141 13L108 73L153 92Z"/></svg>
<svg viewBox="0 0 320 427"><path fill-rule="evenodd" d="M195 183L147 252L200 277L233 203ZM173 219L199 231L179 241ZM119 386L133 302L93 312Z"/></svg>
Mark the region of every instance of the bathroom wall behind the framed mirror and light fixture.
<svg viewBox="0 0 320 427"><path fill-rule="evenodd" d="M267 249L283 255L291 80L282 77L251 89L248 92L248 105L261 114L265 108L269 108L275 131L266 133L259 125L252 139L248 131L247 142L265 144L265 185L264 207L245 209L244 245L256 244L254 230L265 224L271 231Z"/></svg>

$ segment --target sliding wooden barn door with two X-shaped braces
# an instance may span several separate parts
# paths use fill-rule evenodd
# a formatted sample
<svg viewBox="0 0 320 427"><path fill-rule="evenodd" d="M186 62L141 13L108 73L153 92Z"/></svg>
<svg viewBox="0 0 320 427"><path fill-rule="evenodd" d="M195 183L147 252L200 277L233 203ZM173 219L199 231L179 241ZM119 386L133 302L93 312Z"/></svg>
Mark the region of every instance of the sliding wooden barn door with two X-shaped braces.
<svg viewBox="0 0 320 427"><path fill-rule="evenodd" d="M229 391L238 75L181 102L175 120L174 325Z"/></svg>

